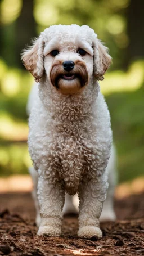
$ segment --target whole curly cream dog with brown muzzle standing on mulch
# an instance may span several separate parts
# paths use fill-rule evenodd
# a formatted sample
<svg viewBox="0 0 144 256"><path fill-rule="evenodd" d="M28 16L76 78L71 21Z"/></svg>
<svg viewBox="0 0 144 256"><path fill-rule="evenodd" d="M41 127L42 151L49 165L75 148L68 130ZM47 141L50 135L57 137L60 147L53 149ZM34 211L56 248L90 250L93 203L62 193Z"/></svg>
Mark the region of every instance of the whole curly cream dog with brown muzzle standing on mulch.
<svg viewBox="0 0 144 256"><path fill-rule="evenodd" d="M53 25L23 51L22 62L38 82L38 93L31 96L28 138L38 173L38 235L61 235L65 193L78 193L78 236L100 238L112 132L98 80L104 79L111 57L88 26ZM104 217L114 219L108 197Z"/></svg>

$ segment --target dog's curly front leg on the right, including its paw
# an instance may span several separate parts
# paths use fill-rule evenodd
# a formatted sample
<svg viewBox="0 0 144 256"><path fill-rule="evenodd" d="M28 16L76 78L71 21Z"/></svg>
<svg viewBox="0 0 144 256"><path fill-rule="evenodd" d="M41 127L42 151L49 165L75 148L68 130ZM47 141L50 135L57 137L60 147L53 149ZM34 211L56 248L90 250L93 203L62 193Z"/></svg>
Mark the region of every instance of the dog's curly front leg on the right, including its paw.
<svg viewBox="0 0 144 256"><path fill-rule="evenodd" d="M103 201L106 196L107 182L104 177L97 181L83 182L79 187L79 231L78 236L91 238L102 237L99 227L99 218L102 212ZM102 182L101 181L105 182Z"/></svg>

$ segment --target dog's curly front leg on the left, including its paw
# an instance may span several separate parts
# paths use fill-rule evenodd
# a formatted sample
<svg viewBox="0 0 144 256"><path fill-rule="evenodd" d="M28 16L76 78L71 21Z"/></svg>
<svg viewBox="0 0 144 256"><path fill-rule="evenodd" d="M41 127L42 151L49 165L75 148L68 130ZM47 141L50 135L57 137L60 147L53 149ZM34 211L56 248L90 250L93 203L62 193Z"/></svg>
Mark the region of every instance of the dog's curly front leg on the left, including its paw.
<svg viewBox="0 0 144 256"><path fill-rule="evenodd" d="M38 199L42 217L38 235L60 236L62 208L65 199L65 192L61 183L51 183L48 179L40 176L38 180Z"/></svg>

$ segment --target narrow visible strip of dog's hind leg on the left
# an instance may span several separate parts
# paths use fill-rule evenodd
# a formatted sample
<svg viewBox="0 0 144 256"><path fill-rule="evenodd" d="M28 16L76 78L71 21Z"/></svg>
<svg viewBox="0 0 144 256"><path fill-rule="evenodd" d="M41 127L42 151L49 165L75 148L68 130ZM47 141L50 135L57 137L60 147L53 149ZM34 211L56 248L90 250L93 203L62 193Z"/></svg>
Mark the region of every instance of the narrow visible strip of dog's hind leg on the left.
<svg viewBox="0 0 144 256"><path fill-rule="evenodd" d="M31 195L34 200L34 205L35 205L35 210L36 210L35 223L37 224L37 227L39 227L40 222L41 222L41 217L40 217L40 208L39 208L38 195L37 195L38 173L36 172L34 167L29 167L29 173L30 173L31 179L33 181L33 191L31 192Z"/></svg>

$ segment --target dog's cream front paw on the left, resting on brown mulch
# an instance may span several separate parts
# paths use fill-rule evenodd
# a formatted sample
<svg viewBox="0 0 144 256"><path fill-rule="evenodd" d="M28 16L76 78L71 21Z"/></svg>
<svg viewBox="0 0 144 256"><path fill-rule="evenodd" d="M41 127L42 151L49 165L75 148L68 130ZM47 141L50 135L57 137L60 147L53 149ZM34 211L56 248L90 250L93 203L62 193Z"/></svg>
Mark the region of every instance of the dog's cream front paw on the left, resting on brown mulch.
<svg viewBox="0 0 144 256"><path fill-rule="evenodd" d="M61 229L60 228L56 228L56 227L52 227L52 226L40 226L39 230L37 232L38 236L60 236L61 235Z"/></svg>

